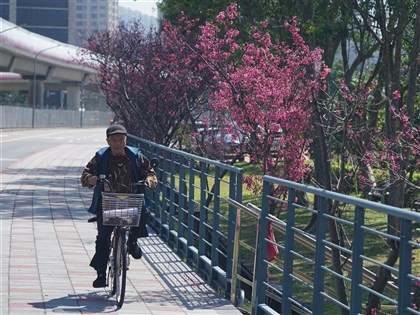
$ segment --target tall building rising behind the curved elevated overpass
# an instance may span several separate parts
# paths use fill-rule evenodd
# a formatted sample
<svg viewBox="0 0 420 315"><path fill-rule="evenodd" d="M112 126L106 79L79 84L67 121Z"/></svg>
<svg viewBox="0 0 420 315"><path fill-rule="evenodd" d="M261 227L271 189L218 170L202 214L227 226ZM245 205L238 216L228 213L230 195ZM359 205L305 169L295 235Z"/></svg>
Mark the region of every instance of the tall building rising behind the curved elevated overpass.
<svg viewBox="0 0 420 315"><path fill-rule="evenodd" d="M118 0L0 0L0 17L27 30L80 46L118 25Z"/></svg>

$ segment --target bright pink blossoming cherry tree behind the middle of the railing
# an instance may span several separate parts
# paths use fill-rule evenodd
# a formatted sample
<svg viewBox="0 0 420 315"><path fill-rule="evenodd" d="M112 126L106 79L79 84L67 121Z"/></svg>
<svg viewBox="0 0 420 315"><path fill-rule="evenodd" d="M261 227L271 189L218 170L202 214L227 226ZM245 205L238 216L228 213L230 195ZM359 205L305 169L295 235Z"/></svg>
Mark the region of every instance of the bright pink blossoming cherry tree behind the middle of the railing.
<svg viewBox="0 0 420 315"><path fill-rule="evenodd" d="M212 152L214 156L223 156L223 145L208 142L221 143L229 135L238 143L231 163L249 155L260 165L261 174L299 182L309 171L305 153L311 102L314 91L325 87L328 74L322 52L309 49L296 20L284 26L290 44L273 40L264 31L266 23L253 27L249 41L243 42L238 39L237 20L237 7L232 4L215 23L200 26L195 46L187 45L217 82L209 97L211 113L203 123L207 130L216 126L220 135L208 137L203 145L219 149ZM177 40L172 25L165 24L164 30ZM246 182L255 192L261 188L259 176L250 175Z"/></svg>

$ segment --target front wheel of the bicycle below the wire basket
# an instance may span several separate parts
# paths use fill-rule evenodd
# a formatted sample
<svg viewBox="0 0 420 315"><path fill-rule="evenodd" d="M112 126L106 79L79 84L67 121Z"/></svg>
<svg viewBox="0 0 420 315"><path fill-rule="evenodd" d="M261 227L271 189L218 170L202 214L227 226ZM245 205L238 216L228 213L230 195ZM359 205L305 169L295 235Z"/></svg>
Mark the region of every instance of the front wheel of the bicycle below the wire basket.
<svg viewBox="0 0 420 315"><path fill-rule="evenodd" d="M124 229L119 229L115 235L114 243L114 279L112 294L115 294L117 306L121 307L124 303L125 286L127 280L127 242L126 232Z"/></svg>

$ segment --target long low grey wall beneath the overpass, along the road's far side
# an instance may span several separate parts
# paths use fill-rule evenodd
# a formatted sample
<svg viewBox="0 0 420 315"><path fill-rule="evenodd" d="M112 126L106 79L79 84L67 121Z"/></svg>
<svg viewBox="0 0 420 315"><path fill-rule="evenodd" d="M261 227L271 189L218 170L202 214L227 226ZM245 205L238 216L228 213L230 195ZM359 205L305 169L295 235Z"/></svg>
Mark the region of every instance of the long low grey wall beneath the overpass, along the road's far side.
<svg viewBox="0 0 420 315"><path fill-rule="evenodd" d="M34 115L33 115L34 114ZM35 109L0 105L0 129L107 126L112 112Z"/></svg>

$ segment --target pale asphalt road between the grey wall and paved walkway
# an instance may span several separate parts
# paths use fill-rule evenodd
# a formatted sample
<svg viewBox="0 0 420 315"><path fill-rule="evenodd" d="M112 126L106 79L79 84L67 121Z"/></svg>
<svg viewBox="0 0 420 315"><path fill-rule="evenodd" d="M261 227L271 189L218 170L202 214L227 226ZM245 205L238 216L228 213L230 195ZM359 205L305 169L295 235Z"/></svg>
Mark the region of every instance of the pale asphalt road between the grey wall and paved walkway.
<svg viewBox="0 0 420 315"><path fill-rule="evenodd" d="M106 127L0 131L0 171L13 162L48 148L69 143L92 144L92 156L106 146Z"/></svg>

